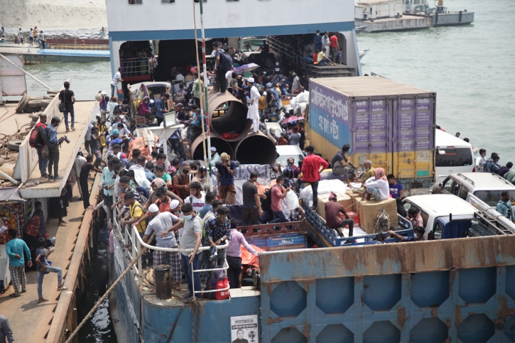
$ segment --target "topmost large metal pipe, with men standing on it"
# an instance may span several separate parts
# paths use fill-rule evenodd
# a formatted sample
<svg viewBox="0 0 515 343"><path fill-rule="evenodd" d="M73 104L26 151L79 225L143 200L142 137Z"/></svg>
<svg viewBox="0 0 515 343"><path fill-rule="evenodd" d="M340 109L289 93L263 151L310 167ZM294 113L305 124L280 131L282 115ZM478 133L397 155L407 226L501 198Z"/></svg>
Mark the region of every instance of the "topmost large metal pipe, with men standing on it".
<svg viewBox="0 0 515 343"><path fill-rule="evenodd" d="M211 131L217 136L221 137L226 132L235 131L239 135L235 138L226 139L226 141L236 142L249 133L252 121L246 119L247 107L239 99L229 92L225 94L217 92L208 94L207 102L209 103ZM229 108L224 114L218 116L217 107L224 103L227 103ZM215 112L217 116L213 117Z"/></svg>

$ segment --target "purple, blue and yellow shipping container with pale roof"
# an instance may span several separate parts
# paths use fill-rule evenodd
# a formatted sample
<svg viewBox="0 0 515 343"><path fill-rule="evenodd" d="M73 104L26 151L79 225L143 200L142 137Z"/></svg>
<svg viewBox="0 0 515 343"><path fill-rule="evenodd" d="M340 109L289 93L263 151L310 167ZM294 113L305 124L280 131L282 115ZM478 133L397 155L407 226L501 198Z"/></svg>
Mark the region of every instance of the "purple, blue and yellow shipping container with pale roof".
<svg viewBox="0 0 515 343"><path fill-rule="evenodd" d="M328 160L346 143L354 165L372 160L405 195L434 183L436 93L383 77L310 79L309 134Z"/></svg>

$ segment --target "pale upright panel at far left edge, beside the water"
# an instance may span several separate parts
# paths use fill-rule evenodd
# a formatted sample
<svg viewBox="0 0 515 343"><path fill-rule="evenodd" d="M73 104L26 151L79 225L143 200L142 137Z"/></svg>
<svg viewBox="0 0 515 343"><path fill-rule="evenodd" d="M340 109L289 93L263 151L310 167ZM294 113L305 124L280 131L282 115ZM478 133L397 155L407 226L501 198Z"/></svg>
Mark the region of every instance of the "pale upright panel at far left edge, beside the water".
<svg viewBox="0 0 515 343"><path fill-rule="evenodd" d="M17 67L23 70L23 55L5 55ZM0 90L1 95L14 96L27 94L25 73L0 58Z"/></svg>

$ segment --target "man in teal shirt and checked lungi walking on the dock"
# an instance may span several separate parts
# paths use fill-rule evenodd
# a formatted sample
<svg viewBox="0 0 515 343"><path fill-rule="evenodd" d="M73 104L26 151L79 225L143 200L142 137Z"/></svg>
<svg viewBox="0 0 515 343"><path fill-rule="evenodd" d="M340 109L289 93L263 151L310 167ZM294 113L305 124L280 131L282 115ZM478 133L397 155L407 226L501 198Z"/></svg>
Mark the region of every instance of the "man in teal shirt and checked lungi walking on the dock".
<svg viewBox="0 0 515 343"><path fill-rule="evenodd" d="M20 283L21 283L21 292L25 293L27 291L27 281L25 278L25 256L23 256L23 252L27 255L28 258L28 266L32 266L31 261L31 251L28 249L25 241L21 239L17 239L16 236L18 232L13 229L9 229L7 232L7 239L9 241L6 244L6 253L9 256L9 273L11 273L11 281L13 282L14 293L9 295L13 298L18 298L21 296L20 294Z"/></svg>

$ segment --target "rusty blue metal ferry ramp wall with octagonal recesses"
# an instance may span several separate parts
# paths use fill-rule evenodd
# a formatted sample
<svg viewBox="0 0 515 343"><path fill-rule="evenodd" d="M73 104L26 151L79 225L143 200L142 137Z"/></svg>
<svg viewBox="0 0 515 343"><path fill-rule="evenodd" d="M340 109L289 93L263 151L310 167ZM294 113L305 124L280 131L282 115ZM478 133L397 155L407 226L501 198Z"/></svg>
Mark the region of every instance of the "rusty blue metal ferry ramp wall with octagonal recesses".
<svg viewBox="0 0 515 343"><path fill-rule="evenodd" d="M262 342L514 342L504 238L261 254Z"/></svg>

